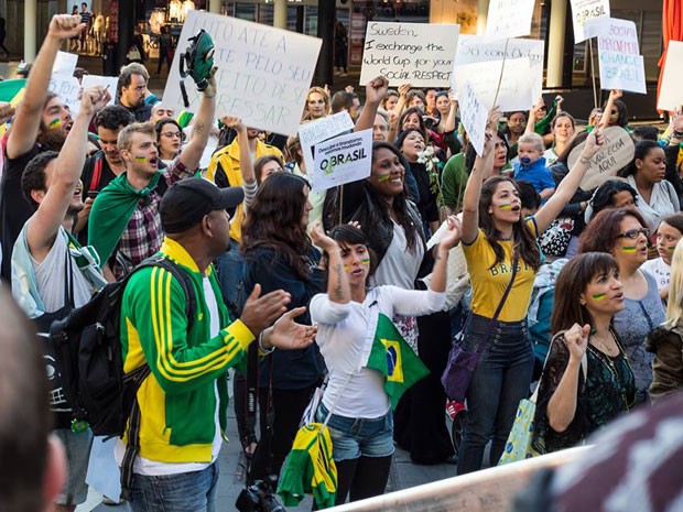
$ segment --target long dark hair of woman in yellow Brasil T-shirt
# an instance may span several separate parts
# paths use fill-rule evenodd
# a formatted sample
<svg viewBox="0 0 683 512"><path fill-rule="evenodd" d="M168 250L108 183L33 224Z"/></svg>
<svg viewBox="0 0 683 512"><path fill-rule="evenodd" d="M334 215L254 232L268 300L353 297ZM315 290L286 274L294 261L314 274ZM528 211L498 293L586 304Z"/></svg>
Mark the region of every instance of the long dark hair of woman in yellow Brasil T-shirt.
<svg viewBox="0 0 683 512"><path fill-rule="evenodd" d="M494 216L489 214L488 209L494 201L494 194L498 188L498 185L503 182L509 182L514 185L517 192L519 187L513 179L505 176L491 176L481 186L481 196L479 198L479 227L486 235L494 253L496 254L496 261L491 265L491 269L501 263L505 259L505 250L500 244L500 231L496 229L494 224ZM524 262L530 265L534 271L541 266L541 251L536 243L536 239L527 226L527 222L521 218L512 226L512 240L514 254L519 255Z"/></svg>

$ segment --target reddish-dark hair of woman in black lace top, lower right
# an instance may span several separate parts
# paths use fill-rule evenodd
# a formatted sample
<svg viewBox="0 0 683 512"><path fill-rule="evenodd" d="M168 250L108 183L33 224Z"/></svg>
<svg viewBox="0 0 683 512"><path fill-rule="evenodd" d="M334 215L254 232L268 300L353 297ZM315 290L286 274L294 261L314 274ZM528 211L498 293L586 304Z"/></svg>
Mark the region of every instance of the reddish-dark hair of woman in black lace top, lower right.
<svg viewBox="0 0 683 512"><path fill-rule="evenodd" d="M609 272L619 272L617 261L606 252L586 252L572 258L560 271L555 281L555 304L553 306L552 333L571 328L574 324L593 325L588 308L581 303L581 294L593 277Z"/></svg>

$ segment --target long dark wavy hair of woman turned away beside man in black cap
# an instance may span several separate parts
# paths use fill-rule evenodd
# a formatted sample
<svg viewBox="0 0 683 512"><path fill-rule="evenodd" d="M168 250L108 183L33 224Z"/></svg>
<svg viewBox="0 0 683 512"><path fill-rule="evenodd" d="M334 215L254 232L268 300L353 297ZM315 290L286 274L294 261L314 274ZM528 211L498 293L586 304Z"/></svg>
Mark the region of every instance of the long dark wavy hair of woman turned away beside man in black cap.
<svg viewBox="0 0 683 512"><path fill-rule="evenodd" d="M307 280L303 257L313 244L301 222L306 207L304 186L308 187L304 178L289 173L265 179L247 210L240 247L245 255L257 248L274 249L300 279Z"/></svg>

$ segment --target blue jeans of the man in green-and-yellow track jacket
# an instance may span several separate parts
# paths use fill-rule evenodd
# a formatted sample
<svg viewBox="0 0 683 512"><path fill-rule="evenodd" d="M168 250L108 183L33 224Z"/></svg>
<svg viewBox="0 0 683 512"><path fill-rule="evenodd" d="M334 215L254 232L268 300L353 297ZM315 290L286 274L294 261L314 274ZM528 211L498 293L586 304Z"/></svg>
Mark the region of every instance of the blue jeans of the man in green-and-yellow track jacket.
<svg viewBox="0 0 683 512"><path fill-rule="evenodd" d="M215 512L218 462L200 471L148 477L135 475L133 512Z"/></svg>

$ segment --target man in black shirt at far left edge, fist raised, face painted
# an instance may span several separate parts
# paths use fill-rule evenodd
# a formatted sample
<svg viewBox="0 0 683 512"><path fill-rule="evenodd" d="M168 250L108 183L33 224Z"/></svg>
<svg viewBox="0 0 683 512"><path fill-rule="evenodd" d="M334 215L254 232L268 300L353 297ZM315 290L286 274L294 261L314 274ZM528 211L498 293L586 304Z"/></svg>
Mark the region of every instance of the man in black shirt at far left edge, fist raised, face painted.
<svg viewBox="0 0 683 512"><path fill-rule="evenodd" d="M39 153L59 151L73 123L64 102L47 89L62 42L78 35L80 29L83 24L79 15L57 14L52 18L8 137L0 187L0 273L8 281L11 276L10 259L14 241L33 214L31 204L21 194L21 175L26 164Z"/></svg>

